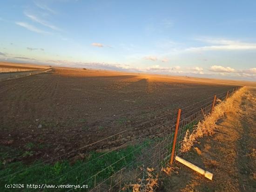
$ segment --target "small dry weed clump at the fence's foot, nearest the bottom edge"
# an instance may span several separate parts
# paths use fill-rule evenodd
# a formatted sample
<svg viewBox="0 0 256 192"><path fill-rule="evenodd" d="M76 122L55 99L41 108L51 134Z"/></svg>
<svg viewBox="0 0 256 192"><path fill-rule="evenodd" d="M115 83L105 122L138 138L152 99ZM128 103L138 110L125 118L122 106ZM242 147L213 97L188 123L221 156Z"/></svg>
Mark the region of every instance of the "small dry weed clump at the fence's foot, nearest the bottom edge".
<svg viewBox="0 0 256 192"><path fill-rule="evenodd" d="M126 191L132 188L133 192L154 192L155 188L158 187L158 174L154 174L154 168L147 168L145 170L140 167L143 173L142 179L138 179L137 184L125 185L121 190Z"/></svg>

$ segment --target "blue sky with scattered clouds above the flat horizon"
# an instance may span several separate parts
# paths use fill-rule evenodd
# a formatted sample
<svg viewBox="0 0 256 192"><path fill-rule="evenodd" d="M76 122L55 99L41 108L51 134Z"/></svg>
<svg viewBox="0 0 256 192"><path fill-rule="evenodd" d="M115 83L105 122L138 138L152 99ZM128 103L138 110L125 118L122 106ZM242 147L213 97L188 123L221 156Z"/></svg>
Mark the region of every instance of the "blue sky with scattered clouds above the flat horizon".
<svg viewBox="0 0 256 192"><path fill-rule="evenodd" d="M0 61L256 81L255 0L2 0Z"/></svg>

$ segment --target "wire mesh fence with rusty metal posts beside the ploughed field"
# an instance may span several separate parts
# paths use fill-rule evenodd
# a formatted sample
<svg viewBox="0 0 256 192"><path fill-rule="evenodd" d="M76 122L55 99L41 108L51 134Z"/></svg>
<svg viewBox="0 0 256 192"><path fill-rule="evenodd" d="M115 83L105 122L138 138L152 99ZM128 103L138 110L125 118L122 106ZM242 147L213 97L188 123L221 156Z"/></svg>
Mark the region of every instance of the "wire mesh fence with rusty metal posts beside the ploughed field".
<svg viewBox="0 0 256 192"><path fill-rule="evenodd" d="M216 98L224 101L240 88L241 86L229 90L228 92L220 93L216 95ZM186 132L193 132L195 126L202 121L206 115L209 115L212 112L214 99L215 97L209 97L182 108L182 111L184 110L185 113L182 113L180 117L178 116L157 124L157 126L143 132L140 138L136 139L136 141L133 139L125 139L129 136L126 135L129 130L136 128L137 131L142 132L142 129L144 128L143 125L148 125L147 123L160 119L170 113L163 114L155 119L149 119L146 122L118 132L115 135L111 135L100 141L61 155L65 156L70 153L79 152L84 148L94 145L101 146L102 142L113 142L113 138L116 139L116 137L122 135L122 137L120 137L120 140L122 140L121 146L112 147L107 151L91 152L86 157L86 161L66 169L65 172L57 172L57 174L56 172L53 172L50 177L48 176L47 179L44 179L45 185L53 183L66 185L69 184L70 180L74 180L75 177L75 181L77 182L76 185L88 185L88 188L80 189L80 191L125 191L126 189L123 188L125 184L137 183L138 179L142 182L143 178L145 178L145 167L153 167L155 169L154 174L158 174L162 167L165 167L170 162L172 151L174 151L174 155L180 153L182 140L184 139ZM175 114L176 112L171 113ZM179 119L178 124L176 123L177 119ZM175 129L177 129L176 138ZM54 159L59 158L60 156L40 162L34 166L26 167L25 169L21 169L14 173L8 172L7 175L0 175L0 179L2 181L13 181L17 175L23 174L26 176L26 174L30 174L29 169L34 169L36 167L39 167L38 171L40 171L40 166L42 164L53 162ZM47 189L44 190L47 191ZM74 187L58 190L73 191ZM30 189L28 191L38 190Z"/></svg>

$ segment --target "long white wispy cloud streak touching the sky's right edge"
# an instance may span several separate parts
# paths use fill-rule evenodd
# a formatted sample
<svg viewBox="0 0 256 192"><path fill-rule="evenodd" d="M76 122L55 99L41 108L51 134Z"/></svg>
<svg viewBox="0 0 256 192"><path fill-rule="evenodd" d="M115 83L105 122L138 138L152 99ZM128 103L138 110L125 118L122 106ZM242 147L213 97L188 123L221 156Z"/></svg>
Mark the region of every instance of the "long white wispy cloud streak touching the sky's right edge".
<svg viewBox="0 0 256 192"><path fill-rule="evenodd" d="M217 51L217 50L256 50L256 43L225 39L196 39L205 42L207 46L189 47L186 51Z"/></svg>

